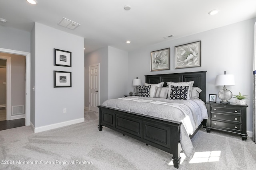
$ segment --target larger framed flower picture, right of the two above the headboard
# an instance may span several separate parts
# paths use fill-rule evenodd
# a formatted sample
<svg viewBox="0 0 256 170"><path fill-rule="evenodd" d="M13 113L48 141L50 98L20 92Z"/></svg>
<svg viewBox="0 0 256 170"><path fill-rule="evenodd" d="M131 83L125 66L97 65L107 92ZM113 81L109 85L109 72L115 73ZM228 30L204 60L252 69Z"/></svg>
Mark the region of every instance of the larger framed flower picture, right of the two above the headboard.
<svg viewBox="0 0 256 170"><path fill-rule="evenodd" d="M201 66L201 41L174 47L174 69Z"/></svg>

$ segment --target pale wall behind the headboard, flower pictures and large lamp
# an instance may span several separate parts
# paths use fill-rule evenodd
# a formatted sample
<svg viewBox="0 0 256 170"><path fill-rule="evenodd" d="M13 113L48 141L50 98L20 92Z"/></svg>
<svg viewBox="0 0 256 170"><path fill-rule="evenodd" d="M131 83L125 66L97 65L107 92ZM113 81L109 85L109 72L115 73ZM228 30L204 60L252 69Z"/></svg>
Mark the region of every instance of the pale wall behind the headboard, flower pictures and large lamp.
<svg viewBox="0 0 256 170"><path fill-rule="evenodd" d="M144 83L144 75L148 74L206 70L206 100L208 100L209 94L218 94L218 91L222 89L214 85L216 75L227 71L227 74L234 74L236 80L236 86L229 86L228 89L234 95L238 92L249 95L249 100L246 100L249 106L247 108L247 131L252 131L252 63L255 21L256 18L129 52L129 65L132 67L129 69L126 83L130 84L136 76ZM195 41L201 41L202 66L174 69L174 47ZM170 70L150 72L150 52L168 47L170 47ZM128 86L128 91L132 91L133 88L131 85ZM235 100L232 98L230 102L235 102Z"/></svg>

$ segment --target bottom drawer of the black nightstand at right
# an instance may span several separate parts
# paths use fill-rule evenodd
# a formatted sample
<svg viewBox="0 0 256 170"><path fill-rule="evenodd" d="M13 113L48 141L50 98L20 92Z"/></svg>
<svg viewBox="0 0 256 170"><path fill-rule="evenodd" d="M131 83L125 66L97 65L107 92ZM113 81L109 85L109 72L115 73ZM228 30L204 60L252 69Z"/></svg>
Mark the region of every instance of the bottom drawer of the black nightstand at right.
<svg viewBox="0 0 256 170"><path fill-rule="evenodd" d="M211 127L239 133L241 132L242 124L226 123L226 122L211 120Z"/></svg>

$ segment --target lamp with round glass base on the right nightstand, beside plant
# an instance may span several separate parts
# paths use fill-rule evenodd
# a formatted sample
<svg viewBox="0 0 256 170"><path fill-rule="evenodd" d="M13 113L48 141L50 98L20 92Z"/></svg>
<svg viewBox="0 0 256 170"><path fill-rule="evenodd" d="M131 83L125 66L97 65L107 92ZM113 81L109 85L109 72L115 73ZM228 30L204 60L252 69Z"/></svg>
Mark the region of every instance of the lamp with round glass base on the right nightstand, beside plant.
<svg viewBox="0 0 256 170"><path fill-rule="evenodd" d="M232 92L227 89L226 86L235 86L235 78L233 74L224 74L216 76L215 86L223 86L223 89L218 92L218 97L220 98L220 103L230 103L230 100L233 96Z"/></svg>

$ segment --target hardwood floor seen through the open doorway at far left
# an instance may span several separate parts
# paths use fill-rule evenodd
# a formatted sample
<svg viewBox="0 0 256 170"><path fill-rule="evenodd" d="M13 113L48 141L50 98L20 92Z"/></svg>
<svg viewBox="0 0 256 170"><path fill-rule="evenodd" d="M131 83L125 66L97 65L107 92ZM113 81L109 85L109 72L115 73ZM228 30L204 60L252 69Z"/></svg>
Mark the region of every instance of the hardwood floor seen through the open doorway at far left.
<svg viewBox="0 0 256 170"><path fill-rule="evenodd" d="M0 131L25 126L25 118L6 120L6 109L0 110Z"/></svg>

